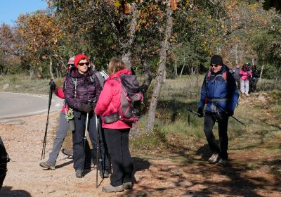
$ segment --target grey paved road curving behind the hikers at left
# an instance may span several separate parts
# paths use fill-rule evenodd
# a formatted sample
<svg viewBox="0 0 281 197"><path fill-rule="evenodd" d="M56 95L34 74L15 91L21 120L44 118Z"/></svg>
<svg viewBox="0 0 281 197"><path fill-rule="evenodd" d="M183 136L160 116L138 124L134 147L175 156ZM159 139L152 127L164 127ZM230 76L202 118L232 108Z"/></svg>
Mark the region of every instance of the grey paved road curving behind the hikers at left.
<svg viewBox="0 0 281 197"><path fill-rule="evenodd" d="M53 94L50 111L60 110L63 99ZM48 112L48 95L0 91L0 120Z"/></svg>

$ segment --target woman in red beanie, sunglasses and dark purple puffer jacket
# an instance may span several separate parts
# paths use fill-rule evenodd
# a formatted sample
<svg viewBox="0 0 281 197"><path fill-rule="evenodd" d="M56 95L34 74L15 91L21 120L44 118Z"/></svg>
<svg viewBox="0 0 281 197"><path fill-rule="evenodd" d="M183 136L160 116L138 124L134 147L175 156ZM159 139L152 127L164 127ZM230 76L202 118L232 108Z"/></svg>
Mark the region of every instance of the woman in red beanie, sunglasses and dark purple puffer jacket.
<svg viewBox="0 0 281 197"><path fill-rule="evenodd" d="M75 56L74 68L66 79L65 98L68 106L74 111L75 131L72 132L73 139L73 160L76 177L84 176L84 169L91 165L91 151L88 147L84 150L84 132L86 117L89 114L88 132L94 150L97 148L96 115L93 113L96 101L100 96L101 84L98 77L91 69L89 58L83 54ZM100 176L109 177L110 162L105 154L105 144L100 135L100 155L103 164L98 165ZM96 155L96 154L95 154ZM103 170L105 170L103 172Z"/></svg>

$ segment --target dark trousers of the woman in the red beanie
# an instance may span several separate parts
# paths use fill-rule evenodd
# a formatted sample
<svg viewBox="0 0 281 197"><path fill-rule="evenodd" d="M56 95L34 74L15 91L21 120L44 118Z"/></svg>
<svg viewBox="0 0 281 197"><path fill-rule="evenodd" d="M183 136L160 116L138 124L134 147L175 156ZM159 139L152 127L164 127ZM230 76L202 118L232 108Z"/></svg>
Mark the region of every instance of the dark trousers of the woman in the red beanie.
<svg viewBox="0 0 281 197"><path fill-rule="evenodd" d="M72 132L73 141L73 161L74 169L84 169L91 165L91 150L89 144L85 144L84 151L84 134L86 128L86 113L77 112L74 110L74 124L75 130ZM96 129L96 115L89 113L88 123L89 137L93 146L93 154L96 156L97 150L97 129ZM98 157L101 158L101 163L98 162L98 170L110 170L110 160L107 154L107 146L105 144L105 137L103 132L99 135L99 153Z"/></svg>

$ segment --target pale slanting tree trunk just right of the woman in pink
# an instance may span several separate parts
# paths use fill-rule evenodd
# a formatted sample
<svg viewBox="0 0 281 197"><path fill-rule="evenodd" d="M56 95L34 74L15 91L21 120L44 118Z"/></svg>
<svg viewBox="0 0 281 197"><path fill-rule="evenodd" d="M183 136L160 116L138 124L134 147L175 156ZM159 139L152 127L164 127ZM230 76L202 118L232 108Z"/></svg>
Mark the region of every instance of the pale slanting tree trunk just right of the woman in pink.
<svg viewBox="0 0 281 197"><path fill-rule="evenodd" d="M166 11L166 30L164 34L164 41L162 42L162 48L160 50L160 63L157 71L157 77L155 80L155 87L150 101L150 108L148 110L148 124L146 127L147 132L152 132L155 123L155 111L157 107L158 96L162 87L162 82L164 80L164 72L166 70L166 56L169 49L169 39L171 37L171 31L173 28L173 10L170 7L169 1L167 1L167 11Z"/></svg>

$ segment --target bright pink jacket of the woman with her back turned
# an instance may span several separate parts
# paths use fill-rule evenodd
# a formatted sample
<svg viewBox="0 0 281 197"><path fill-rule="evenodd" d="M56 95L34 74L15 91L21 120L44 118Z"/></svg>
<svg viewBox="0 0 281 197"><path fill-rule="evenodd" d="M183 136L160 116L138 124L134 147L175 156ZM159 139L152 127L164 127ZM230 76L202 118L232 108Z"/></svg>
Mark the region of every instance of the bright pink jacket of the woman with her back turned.
<svg viewBox="0 0 281 197"><path fill-rule="evenodd" d="M126 69L119 70L105 80L105 85L95 108L95 113L101 115L102 120L105 115L117 113L120 106L121 84L117 80L113 80L113 78L117 78L122 74L131 75L131 71ZM102 127L106 129L128 129L132 127L132 124L117 120L117 122L110 124L103 122Z"/></svg>

